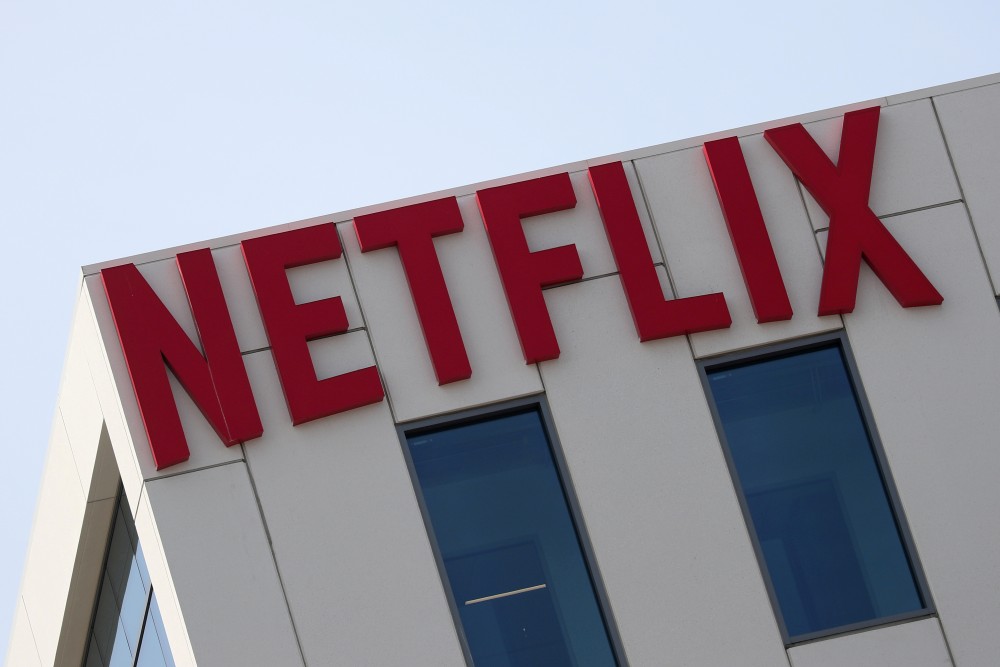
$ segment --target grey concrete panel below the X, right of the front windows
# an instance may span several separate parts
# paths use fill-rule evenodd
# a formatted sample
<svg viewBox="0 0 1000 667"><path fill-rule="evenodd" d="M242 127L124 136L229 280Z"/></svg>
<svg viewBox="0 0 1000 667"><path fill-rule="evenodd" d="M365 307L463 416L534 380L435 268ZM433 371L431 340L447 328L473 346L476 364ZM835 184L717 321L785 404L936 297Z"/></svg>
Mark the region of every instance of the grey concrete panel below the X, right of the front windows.
<svg viewBox="0 0 1000 667"><path fill-rule="evenodd" d="M955 659L988 665L1000 655L1000 311L964 206L887 226L944 303L900 308L863 269L847 335Z"/></svg>

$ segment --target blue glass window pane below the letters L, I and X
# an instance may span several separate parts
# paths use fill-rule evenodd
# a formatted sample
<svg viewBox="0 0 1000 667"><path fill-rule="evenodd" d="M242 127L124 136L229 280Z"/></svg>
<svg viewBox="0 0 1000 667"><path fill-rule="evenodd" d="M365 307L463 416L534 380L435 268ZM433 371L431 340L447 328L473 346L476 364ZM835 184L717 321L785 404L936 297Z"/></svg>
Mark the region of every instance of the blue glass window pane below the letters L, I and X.
<svg viewBox="0 0 1000 667"><path fill-rule="evenodd" d="M707 375L788 638L925 609L840 347Z"/></svg>

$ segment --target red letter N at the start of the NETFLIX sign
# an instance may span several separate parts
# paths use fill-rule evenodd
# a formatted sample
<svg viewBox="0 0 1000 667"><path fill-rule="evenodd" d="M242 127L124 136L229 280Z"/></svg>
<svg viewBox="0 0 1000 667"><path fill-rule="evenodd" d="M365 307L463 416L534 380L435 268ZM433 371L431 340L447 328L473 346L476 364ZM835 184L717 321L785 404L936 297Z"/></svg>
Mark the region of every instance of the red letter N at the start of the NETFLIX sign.
<svg viewBox="0 0 1000 667"><path fill-rule="evenodd" d="M167 366L227 445L264 432L210 250L177 255L205 355L134 264L101 271L157 470L187 461Z"/></svg>

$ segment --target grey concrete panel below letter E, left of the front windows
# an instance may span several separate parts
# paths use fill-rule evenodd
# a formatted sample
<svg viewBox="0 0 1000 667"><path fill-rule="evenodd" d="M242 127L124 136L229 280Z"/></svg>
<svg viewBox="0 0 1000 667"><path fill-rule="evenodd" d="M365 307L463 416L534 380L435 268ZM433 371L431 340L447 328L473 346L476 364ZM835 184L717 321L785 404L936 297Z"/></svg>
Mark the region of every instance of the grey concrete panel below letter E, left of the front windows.
<svg viewBox="0 0 1000 667"><path fill-rule="evenodd" d="M293 427L270 353L247 366L247 462L306 663L464 664L386 403Z"/></svg>

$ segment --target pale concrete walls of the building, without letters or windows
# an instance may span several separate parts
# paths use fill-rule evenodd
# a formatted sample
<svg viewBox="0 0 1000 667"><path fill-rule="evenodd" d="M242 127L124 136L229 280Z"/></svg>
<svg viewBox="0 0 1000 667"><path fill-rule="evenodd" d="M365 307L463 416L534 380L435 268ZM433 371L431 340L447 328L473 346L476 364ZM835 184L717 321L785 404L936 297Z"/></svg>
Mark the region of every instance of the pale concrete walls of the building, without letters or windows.
<svg viewBox="0 0 1000 667"><path fill-rule="evenodd" d="M524 363L466 188L465 230L435 247L473 376L439 387L396 251L360 253L353 221L331 216L344 257L289 272L299 302L345 302L350 329L311 343L314 365L322 378L377 363L386 400L293 427L239 239L227 239L212 252L264 435L223 446L175 385L191 458L157 471L100 275L86 275L8 664L71 664L57 655L80 641L68 608L85 606L70 601L93 560L81 540L99 512L88 510L113 502L119 477L178 665L465 664L397 426L535 395L551 411L629 664L993 664L1000 77L880 105L871 207L941 306L901 308L862 266L855 311L818 317L828 219L764 127L722 133L741 136L792 320L754 319L704 138L623 157L665 294L723 292L733 317L724 331L638 341L575 165L577 207L524 222L532 250L572 243L581 257L583 281L545 291L561 356ZM834 160L843 112L803 119ZM622 158L601 162L610 159ZM138 267L197 341L172 257ZM934 609L786 648L697 364L830 331L844 332L856 361Z"/></svg>

